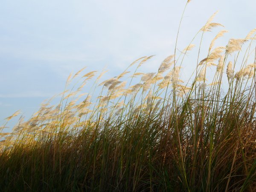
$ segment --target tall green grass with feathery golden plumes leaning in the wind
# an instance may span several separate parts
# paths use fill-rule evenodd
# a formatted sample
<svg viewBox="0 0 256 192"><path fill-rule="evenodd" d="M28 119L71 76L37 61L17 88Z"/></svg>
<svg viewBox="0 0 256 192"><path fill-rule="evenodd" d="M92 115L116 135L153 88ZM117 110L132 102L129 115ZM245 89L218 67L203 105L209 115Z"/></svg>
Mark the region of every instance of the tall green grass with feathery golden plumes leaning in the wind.
<svg viewBox="0 0 256 192"><path fill-rule="evenodd" d="M222 26L213 17L195 35L200 44ZM156 73L139 72L152 57L145 56L103 82L105 71L70 74L58 105L50 99L28 121L20 118L12 133L1 133L0 189L255 191L256 30L215 47L225 32L201 61L199 47L186 82L180 72L195 37L180 54L175 46ZM80 94L93 78L90 94Z"/></svg>

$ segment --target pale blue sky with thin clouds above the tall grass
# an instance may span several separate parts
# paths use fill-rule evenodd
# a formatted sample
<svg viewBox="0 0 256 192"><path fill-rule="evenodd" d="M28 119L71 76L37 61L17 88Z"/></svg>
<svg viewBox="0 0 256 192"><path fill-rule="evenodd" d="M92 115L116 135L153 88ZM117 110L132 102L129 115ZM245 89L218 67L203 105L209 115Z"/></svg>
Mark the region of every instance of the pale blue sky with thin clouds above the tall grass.
<svg viewBox="0 0 256 192"><path fill-rule="evenodd" d="M70 72L106 67L116 76L137 58L156 55L155 71L173 54L186 0L2 0L0 6L0 125L17 110L29 117L61 93ZM191 0L180 27L178 49L189 44L216 11L229 38L255 28L255 0ZM216 32L216 31L214 31ZM216 35L206 35L205 42ZM184 69L186 76L192 68Z"/></svg>

